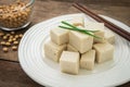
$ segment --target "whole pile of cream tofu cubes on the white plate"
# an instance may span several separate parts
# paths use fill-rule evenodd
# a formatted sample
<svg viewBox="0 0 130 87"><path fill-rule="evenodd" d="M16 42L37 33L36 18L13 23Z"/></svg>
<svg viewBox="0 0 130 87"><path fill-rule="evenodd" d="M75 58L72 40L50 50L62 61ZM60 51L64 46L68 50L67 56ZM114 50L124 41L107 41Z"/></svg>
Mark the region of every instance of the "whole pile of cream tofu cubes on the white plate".
<svg viewBox="0 0 130 87"><path fill-rule="evenodd" d="M76 17L72 24L91 30L102 39L67 30L60 27L50 30L51 40L44 44L44 55L60 63L61 71L78 74L79 69L93 70L94 64L114 58L114 34L105 32L103 23L84 23L83 17Z"/></svg>

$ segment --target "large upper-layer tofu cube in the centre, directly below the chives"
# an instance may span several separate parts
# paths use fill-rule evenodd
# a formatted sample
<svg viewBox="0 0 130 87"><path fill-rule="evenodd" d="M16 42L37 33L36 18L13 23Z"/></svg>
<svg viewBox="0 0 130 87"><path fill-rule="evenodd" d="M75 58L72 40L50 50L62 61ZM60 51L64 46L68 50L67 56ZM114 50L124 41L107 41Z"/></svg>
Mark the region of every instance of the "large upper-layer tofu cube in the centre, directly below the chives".
<svg viewBox="0 0 130 87"><path fill-rule="evenodd" d="M92 48L93 37L78 32L69 32L69 44L80 53L84 53Z"/></svg>

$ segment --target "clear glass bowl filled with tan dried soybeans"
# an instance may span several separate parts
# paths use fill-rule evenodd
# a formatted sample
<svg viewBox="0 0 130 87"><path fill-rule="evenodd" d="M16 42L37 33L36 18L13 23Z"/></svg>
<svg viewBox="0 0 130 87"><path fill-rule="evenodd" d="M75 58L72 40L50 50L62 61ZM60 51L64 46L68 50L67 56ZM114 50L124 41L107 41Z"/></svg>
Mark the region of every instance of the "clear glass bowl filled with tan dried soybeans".
<svg viewBox="0 0 130 87"><path fill-rule="evenodd" d="M1 0L0 3L0 28L21 29L31 22L34 0Z"/></svg>

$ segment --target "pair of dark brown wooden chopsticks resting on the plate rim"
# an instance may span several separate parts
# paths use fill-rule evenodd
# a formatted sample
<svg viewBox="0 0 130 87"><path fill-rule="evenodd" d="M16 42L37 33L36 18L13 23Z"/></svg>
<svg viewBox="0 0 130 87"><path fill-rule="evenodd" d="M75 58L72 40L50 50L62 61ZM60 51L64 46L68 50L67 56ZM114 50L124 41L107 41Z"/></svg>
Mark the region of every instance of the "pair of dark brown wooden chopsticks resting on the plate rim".
<svg viewBox="0 0 130 87"><path fill-rule="evenodd" d="M108 27L109 29L112 29L113 32L115 32L116 34L122 36L123 38L126 38L127 40L130 41L130 33L118 27L117 25L106 21L105 18L99 16L98 14L91 12L90 10L88 10L86 7L83 7L82 4L79 3L74 3L73 7L75 7L76 9L80 10L81 12L88 14L89 16L91 16L92 18L94 18L98 22L104 23L104 25L106 27Z"/></svg>

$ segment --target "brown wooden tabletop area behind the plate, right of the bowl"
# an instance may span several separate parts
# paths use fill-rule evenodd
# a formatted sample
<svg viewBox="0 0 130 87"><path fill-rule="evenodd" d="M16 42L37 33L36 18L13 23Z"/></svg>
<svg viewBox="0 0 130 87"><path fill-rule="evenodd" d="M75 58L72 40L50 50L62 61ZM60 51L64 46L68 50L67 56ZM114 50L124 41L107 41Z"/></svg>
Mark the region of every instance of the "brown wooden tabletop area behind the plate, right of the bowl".
<svg viewBox="0 0 130 87"><path fill-rule="evenodd" d="M36 0L35 15L42 15L43 18L39 16L39 20L47 20L61 14L80 12L72 7L73 2L82 3L98 14L114 17L130 26L130 0Z"/></svg>

